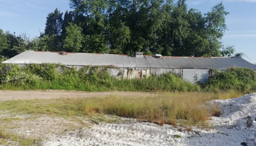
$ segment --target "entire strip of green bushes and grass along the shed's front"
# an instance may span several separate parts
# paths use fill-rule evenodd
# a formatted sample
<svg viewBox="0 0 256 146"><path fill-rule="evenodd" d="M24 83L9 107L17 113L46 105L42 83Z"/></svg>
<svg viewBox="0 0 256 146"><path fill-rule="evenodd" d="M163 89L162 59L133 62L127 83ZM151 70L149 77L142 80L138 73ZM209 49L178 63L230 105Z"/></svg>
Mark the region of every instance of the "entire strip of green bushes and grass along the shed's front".
<svg viewBox="0 0 256 146"><path fill-rule="evenodd" d="M151 75L142 79L112 78L100 67L76 68L60 64L0 64L8 69L0 74L2 90L79 90L79 91L169 91L169 92L218 92L235 90L243 93L256 91L256 73L249 68L229 68L226 71L212 71L209 82L194 85L172 74L160 77ZM89 73L88 73L89 72ZM122 77L122 75L121 75Z"/></svg>

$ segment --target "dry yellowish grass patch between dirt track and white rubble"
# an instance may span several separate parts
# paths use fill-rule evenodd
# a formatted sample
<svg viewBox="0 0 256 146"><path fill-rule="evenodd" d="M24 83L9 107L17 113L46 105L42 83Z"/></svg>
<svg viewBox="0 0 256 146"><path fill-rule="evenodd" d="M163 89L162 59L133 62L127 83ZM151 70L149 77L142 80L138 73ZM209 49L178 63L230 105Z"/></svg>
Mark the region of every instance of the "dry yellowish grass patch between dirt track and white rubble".
<svg viewBox="0 0 256 146"><path fill-rule="evenodd" d="M156 93L153 96L102 96L97 98L18 100L0 102L0 110L21 114L82 116L93 113L111 114L157 123L194 126L205 122L220 110L218 105L205 105L214 99L242 96L235 91L219 93Z"/></svg>

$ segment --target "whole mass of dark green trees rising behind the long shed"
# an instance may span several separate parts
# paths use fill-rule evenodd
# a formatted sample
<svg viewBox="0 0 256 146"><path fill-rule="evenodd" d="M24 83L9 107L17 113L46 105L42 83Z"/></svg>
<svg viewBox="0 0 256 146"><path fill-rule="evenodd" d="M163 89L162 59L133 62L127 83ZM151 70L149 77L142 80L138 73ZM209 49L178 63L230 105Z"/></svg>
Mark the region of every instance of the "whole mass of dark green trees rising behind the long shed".
<svg viewBox="0 0 256 146"><path fill-rule="evenodd" d="M220 39L227 26L222 3L208 13L188 9L185 0L70 0L72 11L49 13L45 32L26 34L0 30L0 54L24 50L165 56L231 56L233 46Z"/></svg>

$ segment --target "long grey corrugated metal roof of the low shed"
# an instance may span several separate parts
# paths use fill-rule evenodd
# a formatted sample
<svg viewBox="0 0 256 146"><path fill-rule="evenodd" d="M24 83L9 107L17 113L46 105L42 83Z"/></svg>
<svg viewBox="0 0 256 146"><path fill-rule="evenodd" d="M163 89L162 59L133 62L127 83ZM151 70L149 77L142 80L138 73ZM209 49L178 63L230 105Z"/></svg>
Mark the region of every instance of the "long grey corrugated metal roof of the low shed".
<svg viewBox="0 0 256 146"><path fill-rule="evenodd" d="M136 58L129 55L67 53L60 55L56 52L25 51L4 63L60 63L63 65L106 66L113 65L122 68L202 68L226 70L228 67L248 67L256 70L253 65L241 57L170 57L144 55Z"/></svg>

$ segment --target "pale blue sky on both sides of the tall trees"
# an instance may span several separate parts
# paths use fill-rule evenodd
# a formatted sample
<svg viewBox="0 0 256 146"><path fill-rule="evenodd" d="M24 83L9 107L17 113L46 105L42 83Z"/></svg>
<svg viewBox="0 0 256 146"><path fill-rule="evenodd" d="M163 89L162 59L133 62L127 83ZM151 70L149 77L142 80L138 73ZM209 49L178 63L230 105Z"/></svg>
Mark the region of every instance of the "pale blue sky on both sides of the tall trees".
<svg viewBox="0 0 256 146"><path fill-rule="evenodd" d="M222 42L235 46L236 53L243 52L243 57L256 63L256 0L187 0L187 7L201 13L223 1L226 16L226 30ZM31 38L44 32L47 14L58 8L65 13L71 10L69 0L0 0L0 29L20 35L25 33ZM64 16L64 15L63 15Z"/></svg>

